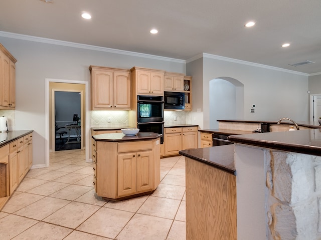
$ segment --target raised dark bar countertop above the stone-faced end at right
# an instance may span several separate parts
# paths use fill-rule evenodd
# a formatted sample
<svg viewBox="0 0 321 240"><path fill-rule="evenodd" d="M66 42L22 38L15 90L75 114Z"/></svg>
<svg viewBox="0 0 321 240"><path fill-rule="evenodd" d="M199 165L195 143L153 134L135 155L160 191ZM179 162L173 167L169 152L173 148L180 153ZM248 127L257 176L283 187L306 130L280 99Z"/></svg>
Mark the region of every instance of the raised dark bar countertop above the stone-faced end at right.
<svg viewBox="0 0 321 240"><path fill-rule="evenodd" d="M321 129L232 135L228 140L263 148L321 156Z"/></svg>

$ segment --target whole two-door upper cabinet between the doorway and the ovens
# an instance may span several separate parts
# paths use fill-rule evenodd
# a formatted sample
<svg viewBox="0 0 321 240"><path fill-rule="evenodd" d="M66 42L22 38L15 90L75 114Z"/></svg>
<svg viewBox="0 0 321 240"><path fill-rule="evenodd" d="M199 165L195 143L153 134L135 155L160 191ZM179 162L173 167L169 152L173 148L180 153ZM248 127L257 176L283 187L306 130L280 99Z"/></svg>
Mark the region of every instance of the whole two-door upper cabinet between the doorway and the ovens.
<svg viewBox="0 0 321 240"><path fill-rule="evenodd" d="M91 109L130 110L130 71L90 66Z"/></svg>

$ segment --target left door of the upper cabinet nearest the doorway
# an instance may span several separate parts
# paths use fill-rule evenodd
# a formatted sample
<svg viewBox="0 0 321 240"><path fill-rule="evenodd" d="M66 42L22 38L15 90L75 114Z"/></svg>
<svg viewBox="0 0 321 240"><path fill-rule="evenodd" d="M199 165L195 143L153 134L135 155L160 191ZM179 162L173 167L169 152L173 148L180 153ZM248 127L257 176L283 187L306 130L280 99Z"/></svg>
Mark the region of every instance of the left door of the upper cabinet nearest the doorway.
<svg viewBox="0 0 321 240"><path fill-rule="evenodd" d="M91 75L92 110L112 108L113 72L93 69Z"/></svg>

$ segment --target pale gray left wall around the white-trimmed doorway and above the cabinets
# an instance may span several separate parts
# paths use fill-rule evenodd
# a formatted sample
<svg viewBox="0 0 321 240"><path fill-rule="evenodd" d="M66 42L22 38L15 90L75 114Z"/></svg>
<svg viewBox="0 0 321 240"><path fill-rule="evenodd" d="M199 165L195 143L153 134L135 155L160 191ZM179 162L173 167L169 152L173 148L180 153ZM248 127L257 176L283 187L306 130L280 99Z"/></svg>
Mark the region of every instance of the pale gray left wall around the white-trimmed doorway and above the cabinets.
<svg viewBox="0 0 321 240"><path fill-rule="evenodd" d="M27 40L25 40L27 39ZM45 79L90 81L89 65L130 69L133 66L185 73L185 61L117 54L0 36L16 64L16 130L34 130L34 164L45 164ZM35 39L38 41L38 39ZM51 42L51 41L49 41ZM70 44L71 45L71 44ZM74 46L74 45L71 45ZM116 52L116 51L115 51ZM120 52L120 51L118 51ZM141 57L139 57L141 56ZM90 93L89 97L90 97Z"/></svg>

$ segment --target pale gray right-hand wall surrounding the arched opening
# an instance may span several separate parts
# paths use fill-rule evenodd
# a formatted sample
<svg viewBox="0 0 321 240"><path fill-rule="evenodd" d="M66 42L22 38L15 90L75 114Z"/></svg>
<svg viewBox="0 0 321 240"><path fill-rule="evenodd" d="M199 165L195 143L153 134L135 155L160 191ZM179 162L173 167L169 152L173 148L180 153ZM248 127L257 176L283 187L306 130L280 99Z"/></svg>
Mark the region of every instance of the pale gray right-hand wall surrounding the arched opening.
<svg viewBox="0 0 321 240"><path fill-rule="evenodd" d="M193 76L193 72L190 73ZM230 77L244 84L245 120L274 120L289 117L308 120L308 76L241 61L222 61L203 56L203 88L193 88L193 96L203 95L204 128L210 126L209 83L212 79ZM194 83L193 83L194 84ZM197 91L197 92L196 92ZM255 104L255 113L251 105Z"/></svg>

